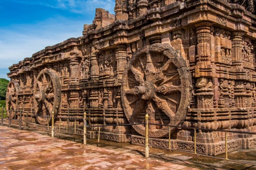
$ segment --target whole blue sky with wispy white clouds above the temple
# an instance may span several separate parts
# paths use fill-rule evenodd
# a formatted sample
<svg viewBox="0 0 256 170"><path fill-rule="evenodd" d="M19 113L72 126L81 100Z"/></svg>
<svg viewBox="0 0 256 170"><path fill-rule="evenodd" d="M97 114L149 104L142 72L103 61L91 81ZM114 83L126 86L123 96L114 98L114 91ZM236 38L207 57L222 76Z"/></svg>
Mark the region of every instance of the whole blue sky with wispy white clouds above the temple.
<svg viewBox="0 0 256 170"><path fill-rule="evenodd" d="M115 0L0 0L0 78L46 46L82 36L95 8L114 14L114 6Z"/></svg>

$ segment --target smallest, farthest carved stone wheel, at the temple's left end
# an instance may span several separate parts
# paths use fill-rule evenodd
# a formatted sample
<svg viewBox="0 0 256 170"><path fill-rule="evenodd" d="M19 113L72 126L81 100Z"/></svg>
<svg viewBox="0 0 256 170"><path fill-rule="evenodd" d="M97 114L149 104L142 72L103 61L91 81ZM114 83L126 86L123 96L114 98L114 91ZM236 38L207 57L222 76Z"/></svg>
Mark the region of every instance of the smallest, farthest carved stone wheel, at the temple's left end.
<svg viewBox="0 0 256 170"><path fill-rule="evenodd" d="M12 110L17 110L18 106L18 91L19 91L19 84L16 80L11 80L8 84L7 90L6 90L6 110L10 110L12 107ZM7 112L8 117L10 117L10 112ZM14 118L15 112L11 112L11 119Z"/></svg>

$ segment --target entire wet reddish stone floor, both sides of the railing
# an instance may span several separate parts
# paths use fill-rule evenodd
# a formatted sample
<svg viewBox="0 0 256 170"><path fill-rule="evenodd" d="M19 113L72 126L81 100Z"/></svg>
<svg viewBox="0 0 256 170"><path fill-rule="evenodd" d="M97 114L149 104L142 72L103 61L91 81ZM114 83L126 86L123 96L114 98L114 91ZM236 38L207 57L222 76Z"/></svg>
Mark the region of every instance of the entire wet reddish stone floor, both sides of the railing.
<svg viewBox="0 0 256 170"><path fill-rule="evenodd" d="M58 135L56 135L58 136ZM0 169L256 169L190 153L90 139L89 145L0 126ZM256 163L256 149L229 153L229 158Z"/></svg>

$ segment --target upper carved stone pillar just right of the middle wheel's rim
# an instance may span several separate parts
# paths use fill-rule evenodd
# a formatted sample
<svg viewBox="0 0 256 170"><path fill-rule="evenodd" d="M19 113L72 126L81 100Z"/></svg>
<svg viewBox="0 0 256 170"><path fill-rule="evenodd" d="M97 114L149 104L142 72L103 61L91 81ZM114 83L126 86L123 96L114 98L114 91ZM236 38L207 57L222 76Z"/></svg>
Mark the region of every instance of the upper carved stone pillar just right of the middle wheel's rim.
<svg viewBox="0 0 256 170"><path fill-rule="evenodd" d="M79 83L79 58L71 57L69 58L70 65L70 82Z"/></svg>

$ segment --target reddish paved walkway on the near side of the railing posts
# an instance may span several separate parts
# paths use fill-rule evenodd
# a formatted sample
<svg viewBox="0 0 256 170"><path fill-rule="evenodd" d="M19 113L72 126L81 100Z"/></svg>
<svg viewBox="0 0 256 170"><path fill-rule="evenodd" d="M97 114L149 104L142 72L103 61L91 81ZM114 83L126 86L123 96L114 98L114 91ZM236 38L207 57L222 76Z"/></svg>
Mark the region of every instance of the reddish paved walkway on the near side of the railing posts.
<svg viewBox="0 0 256 170"><path fill-rule="evenodd" d="M179 163L144 158L126 150L51 138L0 126L0 169L195 169Z"/></svg>

